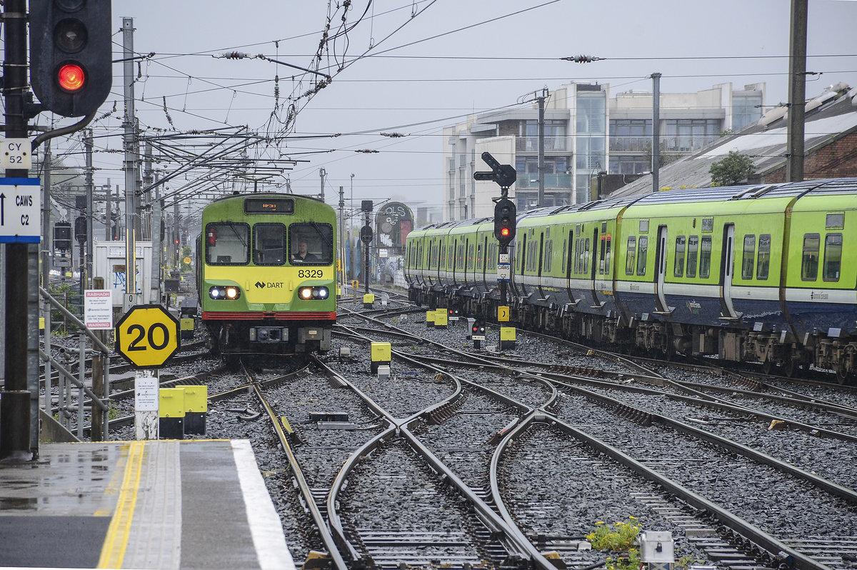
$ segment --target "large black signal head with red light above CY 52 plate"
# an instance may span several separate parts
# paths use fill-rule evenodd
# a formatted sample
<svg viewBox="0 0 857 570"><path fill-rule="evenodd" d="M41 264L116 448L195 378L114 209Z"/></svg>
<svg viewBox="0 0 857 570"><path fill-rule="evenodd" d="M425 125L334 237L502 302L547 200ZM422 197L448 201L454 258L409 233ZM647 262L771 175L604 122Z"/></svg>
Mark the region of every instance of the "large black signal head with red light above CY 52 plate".
<svg viewBox="0 0 857 570"><path fill-rule="evenodd" d="M113 87L111 0L30 0L30 82L45 110L98 111Z"/></svg>

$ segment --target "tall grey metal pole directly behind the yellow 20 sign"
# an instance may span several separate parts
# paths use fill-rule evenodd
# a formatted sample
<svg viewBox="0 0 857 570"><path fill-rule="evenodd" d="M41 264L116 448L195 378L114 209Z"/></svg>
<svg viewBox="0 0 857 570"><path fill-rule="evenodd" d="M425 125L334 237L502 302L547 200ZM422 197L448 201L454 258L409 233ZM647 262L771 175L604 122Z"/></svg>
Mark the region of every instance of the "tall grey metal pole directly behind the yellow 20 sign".
<svg viewBox="0 0 857 570"><path fill-rule="evenodd" d="M123 121L125 146L125 298L123 310L137 304L136 244L135 244L135 189L136 189L136 139L134 117L134 19L122 19L123 81L125 97L125 119Z"/></svg>

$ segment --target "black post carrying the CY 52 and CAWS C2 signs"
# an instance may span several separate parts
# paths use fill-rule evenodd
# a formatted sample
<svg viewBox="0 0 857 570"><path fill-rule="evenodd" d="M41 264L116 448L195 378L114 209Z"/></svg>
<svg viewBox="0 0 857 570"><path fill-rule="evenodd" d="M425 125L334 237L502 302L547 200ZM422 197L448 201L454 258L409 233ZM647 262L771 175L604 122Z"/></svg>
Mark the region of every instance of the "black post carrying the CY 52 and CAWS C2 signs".
<svg viewBox="0 0 857 570"><path fill-rule="evenodd" d="M3 10L3 97L6 136L27 137L24 92L27 90L27 2L6 0ZM8 169L6 177L24 178L26 169ZM0 461L25 462L33 459L30 447L30 392L27 382L29 325L27 243L7 243L6 254L6 346L5 378L0 392ZM25 325L25 326L22 326ZM38 350L38 349L37 349ZM38 382L38 378L36 379ZM38 404L39 392L36 391ZM35 444L38 446L38 438ZM38 451L38 447L37 447Z"/></svg>

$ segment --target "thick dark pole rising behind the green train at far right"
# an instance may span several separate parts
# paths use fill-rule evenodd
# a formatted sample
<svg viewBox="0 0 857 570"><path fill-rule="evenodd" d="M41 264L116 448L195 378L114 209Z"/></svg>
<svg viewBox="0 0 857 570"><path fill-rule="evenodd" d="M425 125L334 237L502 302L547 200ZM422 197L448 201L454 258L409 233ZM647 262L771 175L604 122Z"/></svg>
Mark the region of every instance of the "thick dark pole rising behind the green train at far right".
<svg viewBox="0 0 857 570"><path fill-rule="evenodd" d="M788 48L787 182L803 182L807 3L808 0L792 0L791 39Z"/></svg>

